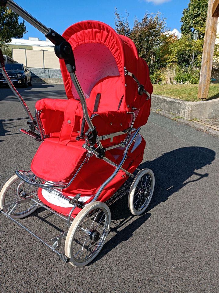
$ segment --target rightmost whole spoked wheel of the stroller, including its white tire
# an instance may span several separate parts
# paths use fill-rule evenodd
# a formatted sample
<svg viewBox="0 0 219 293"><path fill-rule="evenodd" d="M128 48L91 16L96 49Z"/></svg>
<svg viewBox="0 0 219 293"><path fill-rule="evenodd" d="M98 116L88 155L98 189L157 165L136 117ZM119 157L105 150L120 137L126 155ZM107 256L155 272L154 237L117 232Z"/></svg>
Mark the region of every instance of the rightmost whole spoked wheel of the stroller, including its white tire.
<svg viewBox="0 0 219 293"><path fill-rule="evenodd" d="M133 215L141 215L148 207L154 192L154 173L142 169L133 180L129 195L128 207Z"/></svg>

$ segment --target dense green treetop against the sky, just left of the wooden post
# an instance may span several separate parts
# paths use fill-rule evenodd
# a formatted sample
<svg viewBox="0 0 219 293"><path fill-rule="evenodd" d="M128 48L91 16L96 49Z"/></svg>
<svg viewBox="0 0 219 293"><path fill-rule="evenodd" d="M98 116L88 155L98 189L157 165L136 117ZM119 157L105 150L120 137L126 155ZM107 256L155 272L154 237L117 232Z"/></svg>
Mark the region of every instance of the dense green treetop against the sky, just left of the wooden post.
<svg viewBox="0 0 219 293"><path fill-rule="evenodd" d="M181 18L182 34L188 34L192 37L193 30L199 32L199 38L203 39L205 35L205 25L208 11L208 0L190 0L188 8L183 10Z"/></svg>

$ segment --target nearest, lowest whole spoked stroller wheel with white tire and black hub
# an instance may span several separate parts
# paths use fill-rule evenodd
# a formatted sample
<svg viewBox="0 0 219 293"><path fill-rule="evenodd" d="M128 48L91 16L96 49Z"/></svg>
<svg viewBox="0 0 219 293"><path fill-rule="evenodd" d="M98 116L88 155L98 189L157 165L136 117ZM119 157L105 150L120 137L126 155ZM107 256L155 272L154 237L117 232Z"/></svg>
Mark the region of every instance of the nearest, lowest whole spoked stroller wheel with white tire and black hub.
<svg viewBox="0 0 219 293"><path fill-rule="evenodd" d="M95 201L83 208L72 222L65 241L65 254L72 266L85 266L101 251L110 230L109 207Z"/></svg>

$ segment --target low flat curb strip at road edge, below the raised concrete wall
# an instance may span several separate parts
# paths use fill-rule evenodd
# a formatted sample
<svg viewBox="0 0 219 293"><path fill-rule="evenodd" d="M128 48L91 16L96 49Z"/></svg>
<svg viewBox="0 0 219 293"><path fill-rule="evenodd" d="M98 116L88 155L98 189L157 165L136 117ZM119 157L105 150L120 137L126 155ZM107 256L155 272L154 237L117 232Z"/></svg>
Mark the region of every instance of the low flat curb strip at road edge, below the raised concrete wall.
<svg viewBox="0 0 219 293"><path fill-rule="evenodd" d="M181 122L183 124L189 125L189 126L194 127L194 128L196 128L198 130L207 132L207 133L209 133L211 135L219 136L219 131L218 130L215 130L215 129L209 127L209 126L206 126L206 125L204 125L204 123L196 122L196 121L189 121L189 120L183 119L183 118L178 118L178 116L176 116L176 115L173 115L173 114L168 113L166 111L158 110L155 107L151 107L151 110L156 112L157 114L166 116L166 117L168 117L168 118L170 118L172 120L175 120L175 121Z"/></svg>

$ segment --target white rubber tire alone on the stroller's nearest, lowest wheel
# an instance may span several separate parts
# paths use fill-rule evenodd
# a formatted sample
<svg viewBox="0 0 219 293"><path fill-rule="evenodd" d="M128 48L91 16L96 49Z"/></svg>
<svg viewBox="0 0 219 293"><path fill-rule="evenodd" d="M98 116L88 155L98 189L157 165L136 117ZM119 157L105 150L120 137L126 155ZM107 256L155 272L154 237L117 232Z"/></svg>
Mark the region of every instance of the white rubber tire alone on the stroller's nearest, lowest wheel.
<svg viewBox="0 0 219 293"><path fill-rule="evenodd" d="M95 253L93 255L91 255L91 257L89 257L89 259L87 259L84 262L78 262L73 255L73 251L72 251L72 245L73 245L73 241L74 241L74 235L78 229L78 226L80 225L82 219L89 214L89 212L93 211L94 209L97 208L102 208L106 211L106 213L108 214L108 223L107 223L107 227L106 227L106 232L105 235L103 237L102 243L100 244L100 246L98 247L97 251L95 251ZM106 242L106 238L107 235L109 233L110 230L110 222L111 222L111 213L110 213L110 209L109 207L101 202L101 201L95 201L92 202L90 204L88 204L85 208L83 208L75 217L74 221L72 222L68 233L66 235L66 241L65 241L65 255L67 257L70 258L69 264L72 266L76 266L76 267L81 267L81 266L85 266L87 265L89 262L91 262L101 251L104 243Z"/></svg>

